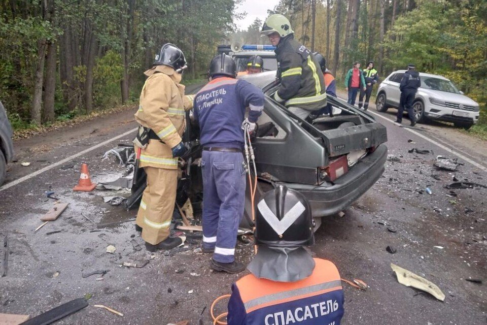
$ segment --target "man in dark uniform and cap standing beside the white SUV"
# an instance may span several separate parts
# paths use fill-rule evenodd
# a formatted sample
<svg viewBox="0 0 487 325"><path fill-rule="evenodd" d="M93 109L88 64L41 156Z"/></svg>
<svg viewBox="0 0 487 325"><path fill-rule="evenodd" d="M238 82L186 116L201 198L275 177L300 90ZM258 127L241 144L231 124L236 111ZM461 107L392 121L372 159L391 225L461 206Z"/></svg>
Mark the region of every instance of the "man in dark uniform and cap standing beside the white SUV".
<svg viewBox="0 0 487 325"><path fill-rule="evenodd" d="M416 97L416 92L418 88L421 87L420 73L416 70L414 64L409 64L407 66L407 71L402 77L401 83L399 85L399 90L401 90L401 99L399 101L399 109L397 110L396 123L402 123L402 113L404 108L407 110L409 115L409 120L411 121L411 126L416 125L416 118L414 116L414 110L412 109L412 104L414 98Z"/></svg>

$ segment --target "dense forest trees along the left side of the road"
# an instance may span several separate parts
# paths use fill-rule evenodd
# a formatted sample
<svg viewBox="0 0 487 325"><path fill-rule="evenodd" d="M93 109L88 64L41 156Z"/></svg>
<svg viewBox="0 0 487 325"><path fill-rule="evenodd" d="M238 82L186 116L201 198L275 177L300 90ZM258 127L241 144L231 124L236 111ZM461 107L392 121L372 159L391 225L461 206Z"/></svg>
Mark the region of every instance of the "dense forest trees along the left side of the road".
<svg viewBox="0 0 487 325"><path fill-rule="evenodd" d="M171 42L206 69L240 0L0 0L0 100L14 126L135 99Z"/></svg>

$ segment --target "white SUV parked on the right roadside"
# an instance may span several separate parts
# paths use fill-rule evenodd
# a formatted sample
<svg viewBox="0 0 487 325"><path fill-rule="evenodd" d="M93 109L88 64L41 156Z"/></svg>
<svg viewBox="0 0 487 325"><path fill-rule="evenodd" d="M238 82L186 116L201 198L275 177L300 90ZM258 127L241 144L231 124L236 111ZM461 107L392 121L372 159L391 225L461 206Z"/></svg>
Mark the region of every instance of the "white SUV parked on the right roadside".
<svg viewBox="0 0 487 325"><path fill-rule="evenodd" d="M377 89L376 109L385 112L388 108L398 108L401 91L399 83L405 70L391 73ZM414 100L414 113L418 123L428 119L452 122L455 126L470 128L477 123L478 103L468 98L445 77L420 72L421 87Z"/></svg>

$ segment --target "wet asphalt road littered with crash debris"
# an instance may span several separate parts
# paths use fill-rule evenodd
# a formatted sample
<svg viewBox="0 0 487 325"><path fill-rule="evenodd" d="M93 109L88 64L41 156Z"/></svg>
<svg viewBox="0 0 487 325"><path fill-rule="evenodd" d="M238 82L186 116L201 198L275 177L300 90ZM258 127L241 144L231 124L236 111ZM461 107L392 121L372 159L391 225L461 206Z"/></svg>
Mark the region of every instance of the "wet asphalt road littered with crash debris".
<svg viewBox="0 0 487 325"><path fill-rule="evenodd" d="M197 324L200 317L204 324L211 323L211 303L229 293L241 275L211 272L210 256L194 251L199 247L197 237L188 237L187 251L136 251L131 239L141 246L143 241L132 222L99 228L133 218L135 211L103 203L101 197L115 195L113 191L72 191L83 162L93 181L122 175L124 168L113 158L101 157L119 143L130 143L134 110L15 143L17 161L9 166L7 181L0 187L0 242L7 235L10 248L7 276L0 278L0 312L34 316L88 295L89 307L57 323L165 325L186 319ZM392 110L379 115L377 120L388 128L389 154L398 159L387 161L383 177L343 217L323 221L311 247L316 256L333 261L343 278L362 279L369 285L362 291L344 284L342 323L485 324L487 189L450 193L444 186L454 176L487 185L487 144L448 125L418 124L410 129L392 123ZM431 152L408 153L412 148ZM433 167L437 155L458 158L462 165L457 172L437 170ZM25 161L30 166L21 166ZM36 171L42 172L32 176ZM69 207L58 220L34 232L54 202L46 198L47 190L55 191ZM60 232L48 235L53 231ZM116 247L114 254L106 252L108 245ZM387 246L397 252L387 252ZM239 242L237 255L250 261L252 246ZM0 262L2 256L4 247ZM144 261L149 261L144 268L120 267L123 262ZM391 263L438 285L445 301L399 284ZM95 270L110 271L102 280L96 280L98 275L82 278L82 273ZM466 281L469 277L483 283ZM219 308L222 311L224 305Z"/></svg>

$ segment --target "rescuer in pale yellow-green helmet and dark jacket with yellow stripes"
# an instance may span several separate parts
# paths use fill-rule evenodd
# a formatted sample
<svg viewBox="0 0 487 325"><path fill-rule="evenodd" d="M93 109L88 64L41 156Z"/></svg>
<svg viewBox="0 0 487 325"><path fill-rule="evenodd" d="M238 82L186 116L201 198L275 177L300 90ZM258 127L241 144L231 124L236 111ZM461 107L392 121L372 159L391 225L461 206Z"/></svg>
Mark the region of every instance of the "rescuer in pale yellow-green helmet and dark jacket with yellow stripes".
<svg viewBox="0 0 487 325"><path fill-rule="evenodd" d="M281 85L274 99L304 119L326 105L325 82L314 55L294 40L291 23L283 15L270 15L264 22L261 35L275 46L277 78Z"/></svg>

